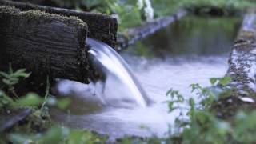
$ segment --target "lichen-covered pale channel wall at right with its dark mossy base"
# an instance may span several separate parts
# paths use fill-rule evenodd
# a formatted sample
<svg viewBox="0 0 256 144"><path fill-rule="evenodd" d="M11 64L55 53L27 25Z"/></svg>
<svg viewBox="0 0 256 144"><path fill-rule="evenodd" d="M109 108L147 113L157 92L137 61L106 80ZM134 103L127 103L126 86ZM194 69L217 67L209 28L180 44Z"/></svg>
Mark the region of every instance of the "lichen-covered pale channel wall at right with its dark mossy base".
<svg viewBox="0 0 256 144"><path fill-rule="evenodd" d="M219 118L232 119L238 110L256 109L256 13L244 16L242 27L234 42L226 76L230 94L219 98L212 106Z"/></svg>

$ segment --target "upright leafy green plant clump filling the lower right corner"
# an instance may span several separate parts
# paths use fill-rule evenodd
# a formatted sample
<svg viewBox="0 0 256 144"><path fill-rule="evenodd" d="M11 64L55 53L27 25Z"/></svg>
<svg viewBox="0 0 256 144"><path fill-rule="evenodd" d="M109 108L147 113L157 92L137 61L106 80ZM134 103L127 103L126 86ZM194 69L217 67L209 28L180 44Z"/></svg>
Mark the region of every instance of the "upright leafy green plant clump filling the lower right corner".
<svg viewBox="0 0 256 144"><path fill-rule="evenodd" d="M196 92L201 102L197 104L194 98L190 98L188 105L190 109L187 112L189 121L177 118L176 126L182 130L179 134L181 143L253 143L256 138L254 137L256 131L256 111L246 114L245 112L238 112L232 122L220 119L210 109L214 102L218 101L218 98L228 94L225 86L230 82L231 78L210 78L212 84L211 87L203 88L198 84L192 84L192 92ZM217 87L221 86L221 87ZM218 89L218 93L213 90ZM170 95L178 94L178 91L170 90ZM183 98L184 99L184 98ZM178 102L178 101L177 101ZM175 104L174 101L170 101L170 105ZM174 110L170 107L170 110ZM172 136L167 140L173 139ZM165 140L165 141L167 141Z"/></svg>

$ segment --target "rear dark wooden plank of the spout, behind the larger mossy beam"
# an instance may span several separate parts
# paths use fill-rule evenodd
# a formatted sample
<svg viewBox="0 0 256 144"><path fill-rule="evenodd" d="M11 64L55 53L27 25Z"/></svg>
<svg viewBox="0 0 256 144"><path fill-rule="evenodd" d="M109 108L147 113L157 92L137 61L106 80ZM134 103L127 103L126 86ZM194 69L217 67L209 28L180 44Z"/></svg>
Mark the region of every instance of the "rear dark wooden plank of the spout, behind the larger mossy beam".
<svg viewBox="0 0 256 144"><path fill-rule="evenodd" d="M50 6L38 6L31 3L12 2L9 0L0 0L0 5L1 4L14 6L20 10L42 10L50 14L76 16L88 25L88 37L98 39L113 47L116 46L118 22L116 18L112 18L109 15L80 12Z"/></svg>

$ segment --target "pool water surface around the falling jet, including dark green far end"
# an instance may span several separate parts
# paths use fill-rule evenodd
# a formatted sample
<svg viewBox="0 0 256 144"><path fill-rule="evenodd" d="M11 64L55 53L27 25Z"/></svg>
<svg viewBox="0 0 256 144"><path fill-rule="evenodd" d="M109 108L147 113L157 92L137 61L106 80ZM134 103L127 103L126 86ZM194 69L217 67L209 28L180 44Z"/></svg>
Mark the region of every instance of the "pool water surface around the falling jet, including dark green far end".
<svg viewBox="0 0 256 144"><path fill-rule="evenodd" d="M109 134L110 138L165 136L180 114L179 110L168 114L166 91L174 88L186 99L196 98L190 94L190 84L210 86L209 78L222 77L240 22L240 18L190 16L124 50L121 55L154 101L152 106L102 106L90 86L64 82L62 90L72 95L73 105L69 112L51 110L52 117L68 126ZM114 85L109 89L114 91Z"/></svg>

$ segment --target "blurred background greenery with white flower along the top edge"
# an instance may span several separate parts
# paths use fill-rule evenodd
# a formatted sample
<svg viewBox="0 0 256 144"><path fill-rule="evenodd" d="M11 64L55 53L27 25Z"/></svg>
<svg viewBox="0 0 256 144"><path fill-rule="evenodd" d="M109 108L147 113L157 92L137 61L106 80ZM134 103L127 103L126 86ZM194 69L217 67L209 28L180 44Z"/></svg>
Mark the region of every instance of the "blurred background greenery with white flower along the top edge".
<svg viewBox="0 0 256 144"><path fill-rule="evenodd" d="M120 31L141 25L142 22L150 22L154 18L174 14L179 8L189 10L202 8L202 13L207 13L217 7L224 10L224 14L229 14L229 10L240 11L249 6L256 6L254 0L42 0L39 2L48 6L112 14L118 18Z"/></svg>

